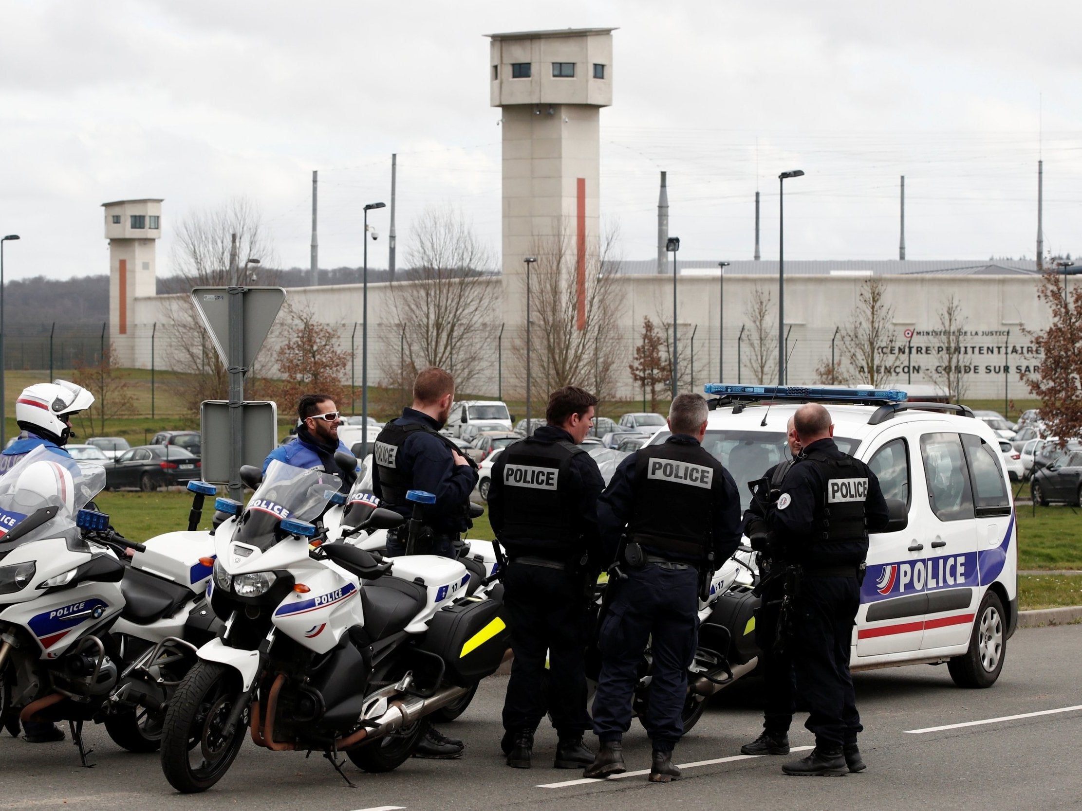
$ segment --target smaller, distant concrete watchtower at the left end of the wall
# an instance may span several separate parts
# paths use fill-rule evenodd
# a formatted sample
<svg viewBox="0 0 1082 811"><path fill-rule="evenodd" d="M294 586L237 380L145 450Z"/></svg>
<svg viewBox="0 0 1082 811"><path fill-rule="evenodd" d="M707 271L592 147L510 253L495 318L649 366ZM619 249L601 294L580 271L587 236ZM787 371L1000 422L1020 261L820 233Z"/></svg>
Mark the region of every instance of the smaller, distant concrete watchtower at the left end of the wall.
<svg viewBox="0 0 1082 811"><path fill-rule="evenodd" d="M109 337L120 365L131 367L135 298L157 292L155 240L161 237L161 200L117 200L102 208L109 240Z"/></svg>

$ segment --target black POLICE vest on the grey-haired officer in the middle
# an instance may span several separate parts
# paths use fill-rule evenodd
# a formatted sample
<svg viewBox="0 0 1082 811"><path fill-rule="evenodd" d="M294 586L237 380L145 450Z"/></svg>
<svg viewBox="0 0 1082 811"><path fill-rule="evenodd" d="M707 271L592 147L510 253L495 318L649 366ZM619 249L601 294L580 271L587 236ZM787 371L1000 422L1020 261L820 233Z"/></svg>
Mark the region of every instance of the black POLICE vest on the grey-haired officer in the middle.
<svg viewBox="0 0 1082 811"><path fill-rule="evenodd" d="M630 540L705 559L712 545L723 469L722 463L699 446L665 442L636 451Z"/></svg>

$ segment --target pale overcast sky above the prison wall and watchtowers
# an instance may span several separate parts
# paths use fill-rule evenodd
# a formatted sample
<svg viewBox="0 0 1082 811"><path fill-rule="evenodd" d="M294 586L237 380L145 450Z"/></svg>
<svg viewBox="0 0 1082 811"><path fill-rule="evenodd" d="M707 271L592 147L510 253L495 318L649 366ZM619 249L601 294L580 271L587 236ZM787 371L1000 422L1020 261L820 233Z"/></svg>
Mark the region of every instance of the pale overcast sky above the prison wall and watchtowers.
<svg viewBox="0 0 1082 811"><path fill-rule="evenodd" d="M106 272L102 202L164 198L170 225L247 195L280 264L360 264L366 202L398 152L399 264L410 224L451 204L500 243L499 109L483 35L613 34L602 111L602 216L625 258L655 254L669 171L682 258L909 258L1080 252L1082 4L1003 0L4 0L0 232L8 278ZM1039 102L1043 97L1043 103ZM1043 114L1042 114L1043 110ZM1039 134L1043 131L1043 138ZM1042 147L1043 143L1043 147ZM385 232L386 211L372 221ZM372 266L385 266L381 237Z"/></svg>

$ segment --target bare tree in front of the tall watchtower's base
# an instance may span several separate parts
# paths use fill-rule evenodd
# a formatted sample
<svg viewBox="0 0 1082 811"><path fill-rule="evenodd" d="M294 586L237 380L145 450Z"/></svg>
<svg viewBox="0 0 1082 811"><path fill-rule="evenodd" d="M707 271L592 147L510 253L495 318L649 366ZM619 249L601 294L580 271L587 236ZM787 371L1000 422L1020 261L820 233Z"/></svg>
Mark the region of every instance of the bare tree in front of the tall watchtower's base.
<svg viewBox="0 0 1082 811"><path fill-rule="evenodd" d="M582 386L606 399L615 390L617 369L626 357L619 327L617 230L588 241L581 289L576 240L566 224L554 230L554 236L533 242L538 261L530 271L531 385L545 394L562 386ZM525 289L524 276L524 296ZM513 354L525 384L525 330Z"/></svg>

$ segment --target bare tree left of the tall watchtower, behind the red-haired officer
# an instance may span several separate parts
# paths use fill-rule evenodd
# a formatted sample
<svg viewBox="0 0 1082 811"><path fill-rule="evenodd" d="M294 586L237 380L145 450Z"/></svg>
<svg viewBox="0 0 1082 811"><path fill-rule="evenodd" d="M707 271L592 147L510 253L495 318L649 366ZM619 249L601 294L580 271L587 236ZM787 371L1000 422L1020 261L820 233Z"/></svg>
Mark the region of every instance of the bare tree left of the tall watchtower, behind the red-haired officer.
<svg viewBox="0 0 1082 811"><path fill-rule="evenodd" d="M397 354L388 355L384 377L412 381L420 370L435 365L452 371L457 388L467 390L488 363L486 328L496 262L454 209L425 211L411 239L406 260L412 280L395 283L393 292L406 369L399 369Z"/></svg>

